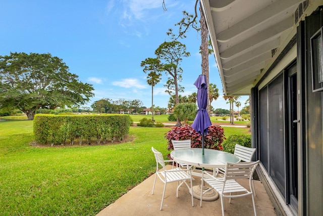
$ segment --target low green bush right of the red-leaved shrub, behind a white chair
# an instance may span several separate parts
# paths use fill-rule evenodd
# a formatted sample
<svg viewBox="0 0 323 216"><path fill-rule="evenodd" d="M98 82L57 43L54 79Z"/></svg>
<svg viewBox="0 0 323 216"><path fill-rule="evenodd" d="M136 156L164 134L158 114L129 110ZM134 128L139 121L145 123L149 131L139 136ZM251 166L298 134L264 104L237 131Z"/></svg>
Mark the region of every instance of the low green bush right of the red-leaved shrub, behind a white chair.
<svg viewBox="0 0 323 216"><path fill-rule="evenodd" d="M236 144L251 148L251 135L248 135L248 134L231 135L224 142L223 150L233 154Z"/></svg>

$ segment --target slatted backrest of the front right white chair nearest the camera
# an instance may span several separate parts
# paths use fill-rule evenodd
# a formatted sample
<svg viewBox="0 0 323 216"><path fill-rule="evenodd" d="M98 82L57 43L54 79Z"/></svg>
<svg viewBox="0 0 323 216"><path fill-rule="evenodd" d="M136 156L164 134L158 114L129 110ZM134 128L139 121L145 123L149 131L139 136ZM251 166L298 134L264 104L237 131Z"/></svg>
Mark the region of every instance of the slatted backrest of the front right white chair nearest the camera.
<svg viewBox="0 0 323 216"><path fill-rule="evenodd" d="M239 163L227 163L224 179L252 179L252 175L258 161L253 162L239 162Z"/></svg>

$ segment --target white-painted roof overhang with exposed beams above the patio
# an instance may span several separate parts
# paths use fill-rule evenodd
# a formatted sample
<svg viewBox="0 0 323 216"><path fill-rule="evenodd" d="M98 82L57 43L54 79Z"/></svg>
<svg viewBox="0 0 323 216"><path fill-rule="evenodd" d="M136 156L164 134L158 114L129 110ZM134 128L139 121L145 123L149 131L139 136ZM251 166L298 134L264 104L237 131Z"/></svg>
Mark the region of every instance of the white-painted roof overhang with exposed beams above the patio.
<svg viewBox="0 0 323 216"><path fill-rule="evenodd" d="M250 95L313 2L201 0L226 95Z"/></svg>

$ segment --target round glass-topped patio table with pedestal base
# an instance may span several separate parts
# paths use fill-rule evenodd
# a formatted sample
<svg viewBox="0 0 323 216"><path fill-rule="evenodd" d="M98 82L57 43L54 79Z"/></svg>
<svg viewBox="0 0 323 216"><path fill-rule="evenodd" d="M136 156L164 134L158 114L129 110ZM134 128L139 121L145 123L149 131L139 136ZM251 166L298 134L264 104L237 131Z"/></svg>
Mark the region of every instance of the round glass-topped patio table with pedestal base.
<svg viewBox="0 0 323 216"><path fill-rule="evenodd" d="M186 163L198 167L207 167L213 168L213 174L216 171L216 168L225 168L227 162L237 163L240 162L239 157L234 154L213 150L213 149L204 149L204 155L202 155L201 148L183 148L177 149L171 152L171 157L180 163ZM196 175L199 176L199 175ZM207 189L205 186L203 190ZM197 185L193 187L193 196L197 199L200 199L201 186ZM219 194L216 190L210 190L209 193L206 193L202 200L213 201L219 198Z"/></svg>

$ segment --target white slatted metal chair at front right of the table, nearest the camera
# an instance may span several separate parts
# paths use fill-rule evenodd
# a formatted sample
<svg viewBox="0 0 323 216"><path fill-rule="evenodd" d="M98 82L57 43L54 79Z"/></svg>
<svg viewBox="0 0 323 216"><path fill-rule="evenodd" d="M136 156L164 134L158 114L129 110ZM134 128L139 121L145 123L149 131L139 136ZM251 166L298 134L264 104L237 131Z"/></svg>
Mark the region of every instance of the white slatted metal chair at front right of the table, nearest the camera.
<svg viewBox="0 0 323 216"><path fill-rule="evenodd" d="M259 160L255 162L239 162L239 163L227 163L226 169L224 173L223 178L217 178L214 177L208 172L203 171L202 172L202 186L203 182L207 183L209 186L211 186L206 191L202 191L201 186L201 201L200 206L202 206L202 195L205 194L210 189L217 190L221 199L221 207L222 207L222 215L224 216L224 197L229 197L229 202L231 203L232 197L242 197L242 196L248 196L251 195L252 197L252 204L253 204L253 210L254 215L256 215L256 207L254 202L254 191L252 187L252 175L256 168L256 166L259 164ZM241 186L236 180L237 179L249 179L249 187L250 191L243 186ZM235 193L235 194L232 194Z"/></svg>

